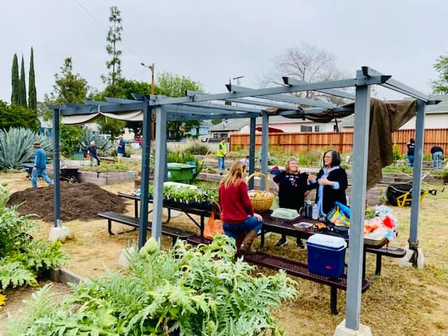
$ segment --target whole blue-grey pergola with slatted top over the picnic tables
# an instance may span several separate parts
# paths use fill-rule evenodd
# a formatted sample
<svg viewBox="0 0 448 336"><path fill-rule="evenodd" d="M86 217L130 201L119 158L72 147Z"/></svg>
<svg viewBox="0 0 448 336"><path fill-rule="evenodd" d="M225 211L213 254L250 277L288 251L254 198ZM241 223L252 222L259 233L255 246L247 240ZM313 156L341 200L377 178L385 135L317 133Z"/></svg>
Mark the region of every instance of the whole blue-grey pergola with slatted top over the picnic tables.
<svg viewBox="0 0 448 336"><path fill-rule="evenodd" d="M142 111L143 114L143 150L141 167L141 202L139 248L146 242L146 226L148 224L148 187L149 162L151 150L151 112L155 111L155 170L153 192L153 221L151 224L153 237L160 241L162 228L162 188L165 181L167 162L167 121L205 120L221 118L250 118L250 174L255 167L255 118L262 117L262 172L267 174L267 151L269 144L269 107L281 109L280 116L304 116L325 111L345 111L344 106L328 102L295 97L290 93L316 90L355 101L355 123L353 134L353 172L351 188L351 229L349 236L349 262L346 294L346 328L358 330L360 321L360 299L362 265L363 265L363 225L365 194L367 180L367 150L369 145L370 123L370 86L381 85L416 99L416 137L414 177L412 188L421 188L421 167L423 159L423 136L425 106L437 104L438 101L386 76L374 69L363 66L356 71L356 78L330 80L319 83L306 83L294 78L283 77L284 86L262 89L251 89L235 85L226 85L229 92L204 94L187 91L186 97L172 98L160 95L134 94L132 99L106 98L106 102L87 101L85 104L63 104L48 106L53 110L53 146L55 172L55 226L62 226L60 219L60 187L59 187L59 116L90 115L93 113L120 113L123 111ZM349 94L342 87L355 87L355 94ZM253 98L257 100L253 100ZM216 103L221 101L220 104ZM238 106L228 106L223 101L237 102ZM213 103L214 102L214 103ZM287 103L287 104L283 104ZM244 107L244 106L247 107ZM257 107L258 106L258 107ZM300 106L310 106L302 109ZM253 181L249 183L253 188ZM262 188L265 183L262 181ZM409 230L409 248L416 251L418 240L419 193L412 194L411 220Z"/></svg>

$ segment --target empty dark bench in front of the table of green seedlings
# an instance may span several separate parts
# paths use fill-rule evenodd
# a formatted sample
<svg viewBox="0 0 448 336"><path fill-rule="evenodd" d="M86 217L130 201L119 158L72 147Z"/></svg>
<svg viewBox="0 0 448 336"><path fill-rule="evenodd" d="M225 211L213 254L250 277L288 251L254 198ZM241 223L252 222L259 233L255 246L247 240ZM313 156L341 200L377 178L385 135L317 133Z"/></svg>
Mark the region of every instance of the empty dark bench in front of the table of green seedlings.
<svg viewBox="0 0 448 336"><path fill-rule="evenodd" d="M107 219L107 231L109 232L109 235L114 235L112 232L112 222L130 225L134 228L133 230L136 230L140 226L139 218L118 214L113 211L102 212L99 213L98 216ZM146 227L146 230L151 230L151 226ZM125 232L120 232L118 235L122 233ZM187 239L188 237L194 236L195 232L189 232L178 228L172 228L171 226L162 225L162 235L172 237L174 245L176 244L178 238Z"/></svg>

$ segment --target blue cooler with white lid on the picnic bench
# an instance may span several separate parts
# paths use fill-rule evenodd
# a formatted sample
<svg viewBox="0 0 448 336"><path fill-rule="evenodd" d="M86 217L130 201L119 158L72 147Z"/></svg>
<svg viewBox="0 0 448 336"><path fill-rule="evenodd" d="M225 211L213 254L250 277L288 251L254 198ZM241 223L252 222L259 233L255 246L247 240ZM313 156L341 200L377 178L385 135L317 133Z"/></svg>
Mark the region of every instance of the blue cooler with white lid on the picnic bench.
<svg viewBox="0 0 448 336"><path fill-rule="evenodd" d="M341 237L316 234L307 240L308 270L330 278L344 274L346 241Z"/></svg>

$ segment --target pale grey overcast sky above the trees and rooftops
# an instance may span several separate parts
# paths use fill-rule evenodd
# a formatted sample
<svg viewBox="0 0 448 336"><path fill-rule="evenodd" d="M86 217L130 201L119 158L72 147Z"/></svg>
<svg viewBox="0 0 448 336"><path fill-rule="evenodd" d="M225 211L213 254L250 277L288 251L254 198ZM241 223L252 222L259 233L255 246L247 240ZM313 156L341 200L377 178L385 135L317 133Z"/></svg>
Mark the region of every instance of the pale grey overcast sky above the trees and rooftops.
<svg viewBox="0 0 448 336"><path fill-rule="evenodd" d="M423 92L448 55L448 1L14 0L0 1L0 99L10 102L13 54L34 47L38 99L52 91L65 57L92 87L106 73L109 7L123 18L123 76L149 80L141 62L224 92L230 77L255 87L276 55L304 41L325 48L353 76L368 65ZM83 9L83 7L85 9ZM86 13L88 12L88 13ZM28 83L28 80L27 80ZM401 98L388 90L381 98Z"/></svg>

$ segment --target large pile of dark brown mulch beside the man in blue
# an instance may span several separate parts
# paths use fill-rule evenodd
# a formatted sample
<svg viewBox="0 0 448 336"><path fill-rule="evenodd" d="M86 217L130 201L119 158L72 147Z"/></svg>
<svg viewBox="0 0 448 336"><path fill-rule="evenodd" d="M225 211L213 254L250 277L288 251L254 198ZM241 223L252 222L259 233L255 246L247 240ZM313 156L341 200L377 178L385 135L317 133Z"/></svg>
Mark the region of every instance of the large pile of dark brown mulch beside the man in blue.
<svg viewBox="0 0 448 336"><path fill-rule="evenodd" d="M8 207L20 204L18 212L22 215L36 214L45 222L53 219L53 187L28 188L10 196ZM61 219L62 221L97 219L104 211L123 213L126 205L123 199L109 193L92 183L61 182Z"/></svg>

